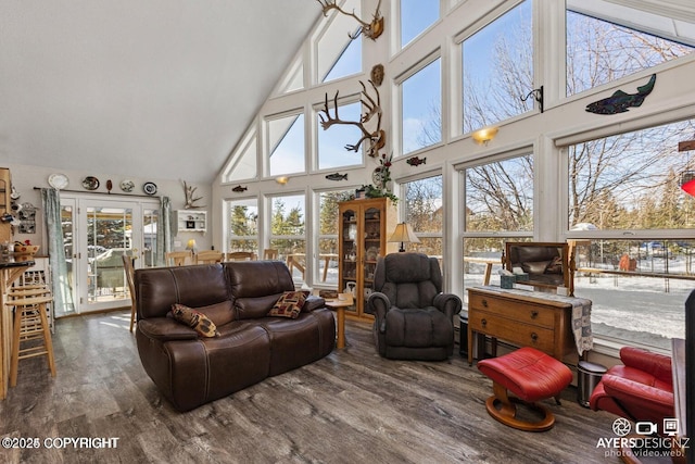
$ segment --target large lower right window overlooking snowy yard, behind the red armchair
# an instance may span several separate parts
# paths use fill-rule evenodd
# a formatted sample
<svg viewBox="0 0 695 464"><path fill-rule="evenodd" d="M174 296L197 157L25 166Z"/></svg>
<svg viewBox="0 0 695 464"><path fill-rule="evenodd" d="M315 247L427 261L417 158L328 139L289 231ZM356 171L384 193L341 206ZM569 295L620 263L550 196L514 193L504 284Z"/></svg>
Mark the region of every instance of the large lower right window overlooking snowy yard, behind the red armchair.
<svg viewBox="0 0 695 464"><path fill-rule="evenodd" d="M695 198L680 184L695 160L674 140L694 133L691 120L567 149L569 235L583 244L574 294L594 302L597 335L662 349L684 336Z"/></svg>

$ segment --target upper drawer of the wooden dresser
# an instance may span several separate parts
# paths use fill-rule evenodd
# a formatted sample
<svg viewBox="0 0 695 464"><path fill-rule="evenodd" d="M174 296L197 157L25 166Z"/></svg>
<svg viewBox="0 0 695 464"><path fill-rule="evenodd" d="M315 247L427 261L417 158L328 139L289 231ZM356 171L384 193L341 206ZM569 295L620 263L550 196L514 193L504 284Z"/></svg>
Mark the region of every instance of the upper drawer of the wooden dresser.
<svg viewBox="0 0 695 464"><path fill-rule="evenodd" d="M525 301L514 301L494 296L469 293L468 308L509 317L515 322L540 327L555 327L555 310Z"/></svg>

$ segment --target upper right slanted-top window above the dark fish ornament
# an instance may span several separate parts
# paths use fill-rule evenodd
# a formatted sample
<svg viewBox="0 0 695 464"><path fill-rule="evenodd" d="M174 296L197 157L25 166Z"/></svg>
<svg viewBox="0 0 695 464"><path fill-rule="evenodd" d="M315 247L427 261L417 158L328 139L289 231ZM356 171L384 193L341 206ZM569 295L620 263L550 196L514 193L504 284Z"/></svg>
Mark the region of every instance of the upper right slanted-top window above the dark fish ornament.
<svg viewBox="0 0 695 464"><path fill-rule="evenodd" d="M693 51L695 37L692 24L605 1L592 2L591 9L574 3L578 2L568 2L567 11L568 96ZM620 25L626 18L630 20L631 27ZM664 24L669 25L668 30L661 28ZM674 30L690 30L690 37L673 33L674 26ZM639 27L642 27L642 32Z"/></svg>

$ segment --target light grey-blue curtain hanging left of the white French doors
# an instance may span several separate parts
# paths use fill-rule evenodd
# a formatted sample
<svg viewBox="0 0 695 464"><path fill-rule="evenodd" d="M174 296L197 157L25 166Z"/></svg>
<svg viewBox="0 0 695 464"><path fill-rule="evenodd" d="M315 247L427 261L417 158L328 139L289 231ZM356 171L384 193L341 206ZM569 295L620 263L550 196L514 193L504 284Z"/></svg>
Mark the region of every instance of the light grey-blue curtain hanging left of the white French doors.
<svg viewBox="0 0 695 464"><path fill-rule="evenodd" d="M48 255L51 269L53 292L53 312L55 317L75 313L75 303L71 290L65 247L63 242L63 227L61 223L61 198L59 191L52 188L41 189L41 204L46 220Z"/></svg>

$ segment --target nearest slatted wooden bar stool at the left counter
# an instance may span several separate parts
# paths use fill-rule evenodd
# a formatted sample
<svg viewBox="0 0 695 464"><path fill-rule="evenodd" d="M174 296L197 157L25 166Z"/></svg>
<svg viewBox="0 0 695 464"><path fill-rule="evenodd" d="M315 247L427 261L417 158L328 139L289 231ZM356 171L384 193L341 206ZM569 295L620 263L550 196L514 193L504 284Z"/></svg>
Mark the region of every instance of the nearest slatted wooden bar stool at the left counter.
<svg viewBox="0 0 695 464"><path fill-rule="evenodd" d="M8 306L14 306L14 329L12 334L12 359L10 363L10 387L17 385L17 368L20 360L34 356L48 356L48 367L51 377L55 377L55 360L53 343L46 315L46 305L53 301L51 291L41 286L31 288L14 287L8 292ZM42 340L36 343L34 340ZM29 342L23 348L21 343Z"/></svg>

